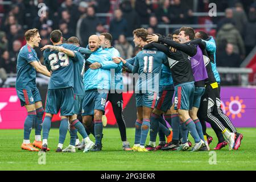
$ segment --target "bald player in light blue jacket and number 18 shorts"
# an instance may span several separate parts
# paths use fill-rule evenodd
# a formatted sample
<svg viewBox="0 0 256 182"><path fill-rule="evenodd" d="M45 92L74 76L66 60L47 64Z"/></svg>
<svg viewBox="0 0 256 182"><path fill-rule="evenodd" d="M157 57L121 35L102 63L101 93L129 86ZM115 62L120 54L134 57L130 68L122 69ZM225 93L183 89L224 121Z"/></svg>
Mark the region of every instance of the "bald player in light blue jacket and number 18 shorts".
<svg viewBox="0 0 256 182"><path fill-rule="evenodd" d="M101 151L102 115L105 113L110 90L110 69L115 69L118 65L112 61L111 53L100 47L100 38L97 35L89 37L89 49L92 54L85 62L82 122L90 133L94 133L96 139L90 151Z"/></svg>

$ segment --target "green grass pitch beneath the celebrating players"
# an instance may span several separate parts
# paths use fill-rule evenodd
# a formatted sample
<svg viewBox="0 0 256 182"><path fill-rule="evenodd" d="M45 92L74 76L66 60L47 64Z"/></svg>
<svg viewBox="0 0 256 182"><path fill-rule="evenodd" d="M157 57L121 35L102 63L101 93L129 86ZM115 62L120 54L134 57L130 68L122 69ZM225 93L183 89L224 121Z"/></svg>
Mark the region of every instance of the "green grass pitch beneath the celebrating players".
<svg viewBox="0 0 256 182"><path fill-rule="evenodd" d="M217 164L209 164L212 156L209 151L122 151L118 129L107 128L104 128L103 150L100 152L56 153L59 130L51 129L48 140L51 151L46 153L46 164L40 165L38 152L20 149L23 130L0 130L0 170L255 170L256 129L241 128L238 131L244 136L239 150L228 151L226 146L216 151ZM212 129L208 129L208 133L213 136L210 144L210 148L213 148L217 139ZM31 132L31 142L34 139L32 134L34 130ZM134 129L127 129L127 139L132 146ZM146 143L148 140L149 137ZM68 146L68 142L69 134L64 147Z"/></svg>

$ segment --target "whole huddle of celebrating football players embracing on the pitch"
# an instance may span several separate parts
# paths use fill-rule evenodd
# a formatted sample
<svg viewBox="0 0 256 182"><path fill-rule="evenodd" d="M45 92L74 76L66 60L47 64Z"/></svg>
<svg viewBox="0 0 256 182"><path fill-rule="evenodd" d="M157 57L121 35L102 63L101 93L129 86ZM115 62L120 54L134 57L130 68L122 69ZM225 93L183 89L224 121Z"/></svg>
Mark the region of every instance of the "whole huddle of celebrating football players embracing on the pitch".
<svg viewBox="0 0 256 182"><path fill-rule="evenodd" d="M243 135L221 110L220 76L216 68L216 44L212 36L181 27L172 35L148 35L144 28L133 31L134 44L142 49L124 60L112 47L112 35L91 35L86 48L72 36L65 40L60 30L53 30L53 45L44 46L44 65L34 50L40 35L36 28L25 33L27 44L18 55L16 92L27 109L21 148L49 151L48 135L53 114L60 110L59 144L56 152L102 150L102 120L106 102L111 102L125 151L177 150L208 151L212 142L206 130L209 122L218 138L214 150L226 145L238 150ZM131 148L126 139L122 106L122 68L138 75L135 85L137 120ZM36 88L36 71L51 77L48 84L44 117L42 99ZM135 113L134 113L135 114ZM82 119L79 119L81 115ZM168 125L171 126L171 130ZM30 133L35 125L35 140ZM43 130L43 139L41 131ZM68 133L69 146L63 149ZM77 139L77 132L82 142ZM148 132L150 142L145 146ZM188 140L188 133L195 140ZM95 143L88 137L92 134ZM159 144L156 146L156 137ZM225 137L225 138L224 138ZM167 141L166 141L167 138ZM37 148L36 148L37 147Z"/></svg>

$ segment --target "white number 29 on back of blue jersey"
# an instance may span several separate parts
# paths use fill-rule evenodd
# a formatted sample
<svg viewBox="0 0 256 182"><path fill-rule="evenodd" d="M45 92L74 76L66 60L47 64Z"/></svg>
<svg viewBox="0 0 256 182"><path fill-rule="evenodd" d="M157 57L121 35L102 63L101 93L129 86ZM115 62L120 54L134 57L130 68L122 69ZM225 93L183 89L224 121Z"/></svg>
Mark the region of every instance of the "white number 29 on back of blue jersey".
<svg viewBox="0 0 256 182"><path fill-rule="evenodd" d="M69 65L69 57L63 52L59 52L57 54L52 53L48 56L48 59L50 61L52 71L60 67L67 67ZM60 64L57 64L59 60Z"/></svg>

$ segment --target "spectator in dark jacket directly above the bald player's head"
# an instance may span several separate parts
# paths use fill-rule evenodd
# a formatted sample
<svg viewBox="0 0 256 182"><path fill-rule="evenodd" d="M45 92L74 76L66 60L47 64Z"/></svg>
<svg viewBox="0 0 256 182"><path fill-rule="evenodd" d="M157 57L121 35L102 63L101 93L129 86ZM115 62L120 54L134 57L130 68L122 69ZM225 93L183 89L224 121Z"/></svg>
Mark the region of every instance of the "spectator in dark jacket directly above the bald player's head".
<svg viewBox="0 0 256 182"><path fill-rule="evenodd" d="M95 16L95 11L92 6L89 6L86 13L86 18L82 19L79 34L81 45L86 46L88 44L89 36L96 33L97 24L100 20Z"/></svg>

